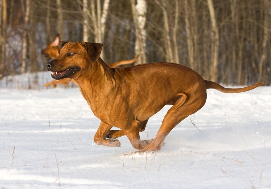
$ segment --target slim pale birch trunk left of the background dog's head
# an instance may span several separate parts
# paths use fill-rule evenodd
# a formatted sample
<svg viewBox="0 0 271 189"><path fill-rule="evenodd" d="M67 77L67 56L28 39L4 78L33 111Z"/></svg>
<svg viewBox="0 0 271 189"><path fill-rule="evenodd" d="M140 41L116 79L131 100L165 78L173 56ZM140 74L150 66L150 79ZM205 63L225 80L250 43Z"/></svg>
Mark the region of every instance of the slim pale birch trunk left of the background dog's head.
<svg viewBox="0 0 271 189"><path fill-rule="evenodd" d="M26 48L27 48L27 32L28 32L28 21L29 21L29 8L30 8L30 0L26 0L25 13L24 13L24 30L23 30L21 73L25 73L25 69L26 69L26 53L27 53Z"/></svg>

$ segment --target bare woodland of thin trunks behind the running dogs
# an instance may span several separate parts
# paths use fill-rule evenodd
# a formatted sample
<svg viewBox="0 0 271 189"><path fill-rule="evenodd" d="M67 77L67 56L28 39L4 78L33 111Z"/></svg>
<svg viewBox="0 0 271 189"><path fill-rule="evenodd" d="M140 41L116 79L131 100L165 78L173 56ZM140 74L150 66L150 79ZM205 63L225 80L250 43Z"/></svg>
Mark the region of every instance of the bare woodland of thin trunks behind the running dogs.
<svg viewBox="0 0 271 189"><path fill-rule="evenodd" d="M44 70L61 40L104 44L105 62L167 61L226 85L270 85L270 0L0 0L0 79Z"/></svg>

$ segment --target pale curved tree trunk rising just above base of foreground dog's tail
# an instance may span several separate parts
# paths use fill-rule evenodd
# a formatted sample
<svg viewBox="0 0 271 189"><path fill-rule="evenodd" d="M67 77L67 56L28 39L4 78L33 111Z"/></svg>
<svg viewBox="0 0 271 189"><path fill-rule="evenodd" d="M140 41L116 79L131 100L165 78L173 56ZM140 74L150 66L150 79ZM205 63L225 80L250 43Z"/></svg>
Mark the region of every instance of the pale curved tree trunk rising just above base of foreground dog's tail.
<svg viewBox="0 0 271 189"><path fill-rule="evenodd" d="M219 51L219 37L218 37L218 28L216 26L216 17L215 17L215 11L213 7L213 1L207 0L209 13L210 13L210 19L211 19L211 40L212 40L212 67L211 67L211 80L214 82L218 82L218 51Z"/></svg>

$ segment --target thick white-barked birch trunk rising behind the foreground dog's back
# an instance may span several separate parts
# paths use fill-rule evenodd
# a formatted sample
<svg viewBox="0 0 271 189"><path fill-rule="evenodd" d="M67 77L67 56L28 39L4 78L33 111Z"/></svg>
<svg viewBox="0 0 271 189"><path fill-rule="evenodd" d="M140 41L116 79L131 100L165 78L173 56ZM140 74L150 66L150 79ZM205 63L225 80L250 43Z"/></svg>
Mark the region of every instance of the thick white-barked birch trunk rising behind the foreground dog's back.
<svg viewBox="0 0 271 189"><path fill-rule="evenodd" d="M146 31L144 29L146 23L147 2L146 0L130 0L132 6L132 15L135 23L136 42L135 54L140 54L135 64L146 63Z"/></svg>

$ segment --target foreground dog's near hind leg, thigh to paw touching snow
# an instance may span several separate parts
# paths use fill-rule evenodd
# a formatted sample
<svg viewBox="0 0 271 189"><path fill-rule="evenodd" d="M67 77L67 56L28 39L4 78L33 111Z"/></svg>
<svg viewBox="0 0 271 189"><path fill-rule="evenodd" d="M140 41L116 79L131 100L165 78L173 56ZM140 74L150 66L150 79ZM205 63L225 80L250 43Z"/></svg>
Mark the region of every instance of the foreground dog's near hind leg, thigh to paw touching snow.
<svg viewBox="0 0 271 189"><path fill-rule="evenodd" d="M139 153L160 150L170 131L187 116L197 112L199 109L201 109L201 107L203 107L206 101L206 92L205 95L204 93L198 94L200 92L197 92L198 91L192 93L192 96L179 93L182 96L173 104L173 107L168 110L153 142L142 150L138 151Z"/></svg>

